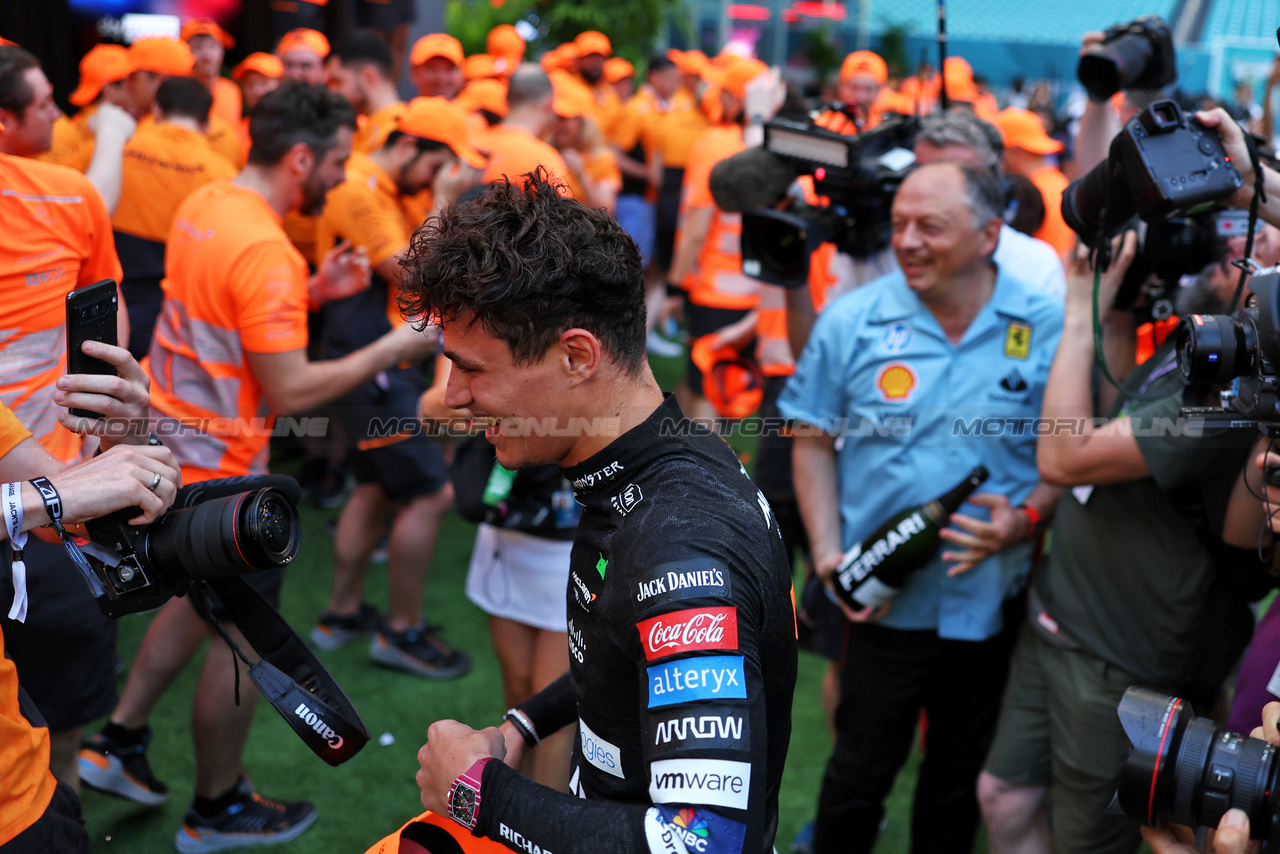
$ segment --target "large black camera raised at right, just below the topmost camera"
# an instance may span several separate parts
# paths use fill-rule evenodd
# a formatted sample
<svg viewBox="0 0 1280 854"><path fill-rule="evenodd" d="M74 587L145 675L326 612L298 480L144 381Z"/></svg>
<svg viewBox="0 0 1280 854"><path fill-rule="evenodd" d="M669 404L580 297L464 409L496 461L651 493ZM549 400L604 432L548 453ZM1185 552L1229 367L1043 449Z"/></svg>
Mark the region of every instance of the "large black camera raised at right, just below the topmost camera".
<svg viewBox="0 0 1280 854"><path fill-rule="evenodd" d="M1062 192L1062 218L1100 248L1134 216L1151 223L1197 214L1243 183L1217 132L1162 100L1129 119L1107 159Z"/></svg>

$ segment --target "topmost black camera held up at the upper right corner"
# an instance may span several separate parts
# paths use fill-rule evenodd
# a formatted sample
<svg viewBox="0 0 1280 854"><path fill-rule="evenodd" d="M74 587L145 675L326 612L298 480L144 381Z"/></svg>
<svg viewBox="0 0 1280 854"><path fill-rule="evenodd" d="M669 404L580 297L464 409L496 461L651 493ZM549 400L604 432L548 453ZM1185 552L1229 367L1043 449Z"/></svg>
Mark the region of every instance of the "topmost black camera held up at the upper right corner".
<svg viewBox="0 0 1280 854"><path fill-rule="evenodd" d="M1156 15L1116 24L1097 49L1080 56L1076 77L1094 101L1125 88L1164 88L1178 79L1174 33Z"/></svg>

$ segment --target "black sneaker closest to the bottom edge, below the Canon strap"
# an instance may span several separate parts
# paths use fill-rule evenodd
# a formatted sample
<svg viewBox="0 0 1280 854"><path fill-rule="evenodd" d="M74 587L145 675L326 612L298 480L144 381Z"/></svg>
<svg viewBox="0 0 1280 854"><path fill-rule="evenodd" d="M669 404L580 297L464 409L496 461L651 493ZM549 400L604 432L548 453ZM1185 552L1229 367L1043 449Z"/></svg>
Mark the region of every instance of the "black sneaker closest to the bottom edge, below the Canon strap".
<svg viewBox="0 0 1280 854"><path fill-rule="evenodd" d="M187 809L182 828L173 839L180 854L205 854L228 848L278 845L301 836L316 821L316 808L306 802L282 803L253 791L253 784L241 778L234 804L212 818Z"/></svg>

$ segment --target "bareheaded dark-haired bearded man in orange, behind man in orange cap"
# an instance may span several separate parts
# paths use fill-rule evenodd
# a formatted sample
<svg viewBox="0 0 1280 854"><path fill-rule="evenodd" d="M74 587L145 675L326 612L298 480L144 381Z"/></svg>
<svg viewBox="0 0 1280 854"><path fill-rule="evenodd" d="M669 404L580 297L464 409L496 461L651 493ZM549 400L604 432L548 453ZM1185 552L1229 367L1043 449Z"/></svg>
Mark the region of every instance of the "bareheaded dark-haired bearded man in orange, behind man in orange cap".
<svg viewBox="0 0 1280 854"><path fill-rule="evenodd" d="M396 120L404 111L404 101L396 91L392 51L372 31L357 31L339 42L329 59L325 73L329 91L351 101L360 114L360 129L351 143L356 154L369 154L383 147L396 129Z"/></svg>

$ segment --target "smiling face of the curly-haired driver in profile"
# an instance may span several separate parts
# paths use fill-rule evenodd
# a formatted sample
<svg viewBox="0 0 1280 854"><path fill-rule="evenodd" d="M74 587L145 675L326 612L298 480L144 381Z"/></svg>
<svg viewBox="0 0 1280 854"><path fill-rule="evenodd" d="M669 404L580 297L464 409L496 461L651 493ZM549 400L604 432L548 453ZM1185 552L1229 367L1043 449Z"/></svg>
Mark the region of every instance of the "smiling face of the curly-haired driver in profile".
<svg viewBox="0 0 1280 854"><path fill-rule="evenodd" d="M443 326L444 355L453 362L444 402L476 420L493 420L485 437L506 469L564 460L576 437L556 435L571 430L540 429L566 428L572 415L564 337L538 361L517 365L506 341L471 320L467 315Z"/></svg>

